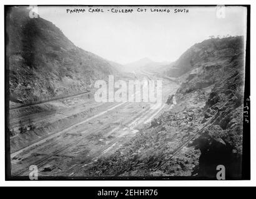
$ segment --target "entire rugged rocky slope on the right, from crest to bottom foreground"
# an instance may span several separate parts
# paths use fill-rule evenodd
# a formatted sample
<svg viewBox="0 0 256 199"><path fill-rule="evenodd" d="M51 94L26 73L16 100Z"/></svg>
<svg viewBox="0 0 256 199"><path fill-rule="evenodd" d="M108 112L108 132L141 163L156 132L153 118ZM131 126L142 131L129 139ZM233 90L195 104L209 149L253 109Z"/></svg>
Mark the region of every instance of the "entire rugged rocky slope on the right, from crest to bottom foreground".
<svg viewBox="0 0 256 199"><path fill-rule="evenodd" d="M241 177L244 37L205 40L176 62L175 104L84 175ZM173 96L172 96L173 98ZM172 101L168 103L171 105Z"/></svg>

